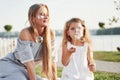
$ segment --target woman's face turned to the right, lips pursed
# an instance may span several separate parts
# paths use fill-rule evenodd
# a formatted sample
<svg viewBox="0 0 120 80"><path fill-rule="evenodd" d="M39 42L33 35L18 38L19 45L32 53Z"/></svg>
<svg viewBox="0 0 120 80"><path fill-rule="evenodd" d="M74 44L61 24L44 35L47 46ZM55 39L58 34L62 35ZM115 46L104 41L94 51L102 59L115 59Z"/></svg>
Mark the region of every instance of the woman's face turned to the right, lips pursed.
<svg viewBox="0 0 120 80"><path fill-rule="evenodd" d="M47 27L49 22L49 15L47 8L42 6L37 11L36 17L34 18L35 24L37 26Z"/></svg>

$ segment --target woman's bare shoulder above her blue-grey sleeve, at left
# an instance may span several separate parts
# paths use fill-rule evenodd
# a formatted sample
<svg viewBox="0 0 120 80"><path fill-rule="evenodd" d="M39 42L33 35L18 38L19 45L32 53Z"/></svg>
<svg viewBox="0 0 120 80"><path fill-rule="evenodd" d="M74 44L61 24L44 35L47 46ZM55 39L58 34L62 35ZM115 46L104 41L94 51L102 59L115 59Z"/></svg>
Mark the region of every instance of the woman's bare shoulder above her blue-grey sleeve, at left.
<svg viewBox="0 0 120 80"><path fill-rule="evenodd" d="M20 32L19 38L21 40L31 40L31 35L30 35L30 32L29 32L29 29L28 28L22 29L21 32Z"/></svg>

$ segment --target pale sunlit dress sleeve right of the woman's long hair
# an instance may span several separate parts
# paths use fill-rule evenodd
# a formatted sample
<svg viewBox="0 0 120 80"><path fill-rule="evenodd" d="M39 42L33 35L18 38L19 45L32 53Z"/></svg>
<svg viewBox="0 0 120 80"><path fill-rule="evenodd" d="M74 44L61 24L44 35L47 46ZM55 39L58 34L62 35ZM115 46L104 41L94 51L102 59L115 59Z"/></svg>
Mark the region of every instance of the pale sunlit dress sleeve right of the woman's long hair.
<svg viewBox="0 0 120 80"><path fill-rule="evenodd" d="M55 40L51 41L51 46L52 46L52 61L57 62L58 57L57 57L57 50L56 50Z"/></svg>

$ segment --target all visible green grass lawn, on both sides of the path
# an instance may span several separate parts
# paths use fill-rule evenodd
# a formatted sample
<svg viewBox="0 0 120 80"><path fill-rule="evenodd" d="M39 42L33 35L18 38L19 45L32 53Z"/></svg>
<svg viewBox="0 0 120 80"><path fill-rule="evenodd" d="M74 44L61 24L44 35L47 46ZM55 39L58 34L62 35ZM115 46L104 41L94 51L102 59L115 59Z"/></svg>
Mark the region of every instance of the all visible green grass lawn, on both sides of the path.
<svg viewBox="0 0 120 80"><path fill-rule="evenodd" d="M105 52L105 51L95 51L94 52L95 60L103 60L103 61L112 61L112 62L120 62L120 52ZM40 74L40 68L36 68L36 73ZM62 68L57 68L57 76L61 77ZM45 77L43 74L40 76ZM94 72L95 79L94 80L120 80L120 73L110 73L110 72Z"/></svg>

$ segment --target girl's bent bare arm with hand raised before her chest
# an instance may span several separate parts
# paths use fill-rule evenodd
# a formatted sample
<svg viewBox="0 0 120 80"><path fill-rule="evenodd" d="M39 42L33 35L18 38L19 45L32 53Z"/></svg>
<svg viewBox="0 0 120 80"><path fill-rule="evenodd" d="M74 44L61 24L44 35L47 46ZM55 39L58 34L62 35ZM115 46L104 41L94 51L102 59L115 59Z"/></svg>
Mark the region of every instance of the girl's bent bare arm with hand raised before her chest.
<svg viewBox="0 0 120 80"><path fill-rule="evenodd" d="M62 44L62 64L64 66L67 66L70 61L70 57L73 52L75 52L76 49L71 47L70 49L67 48L67 43Z"/></svg>

